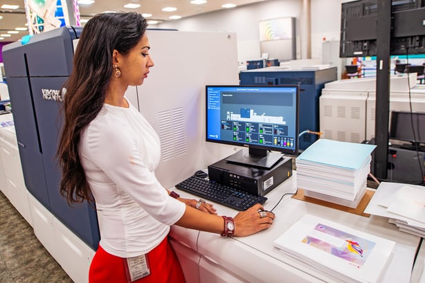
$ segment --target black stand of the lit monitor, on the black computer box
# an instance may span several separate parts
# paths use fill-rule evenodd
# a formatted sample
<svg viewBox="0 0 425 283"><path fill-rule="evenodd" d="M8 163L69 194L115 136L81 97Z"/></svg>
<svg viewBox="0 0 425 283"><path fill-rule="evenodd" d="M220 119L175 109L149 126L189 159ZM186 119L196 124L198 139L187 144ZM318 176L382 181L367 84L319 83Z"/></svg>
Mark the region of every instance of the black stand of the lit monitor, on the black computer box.
<svg viewBox="0 0 425 283"><path fill-rule="evenodd" d="M226 158L226 161L248 165L253 167L260 167L271 169L273 165L278 163L283 158L280 152L268 152L265 149L241 149L235 154Z"/></svg>

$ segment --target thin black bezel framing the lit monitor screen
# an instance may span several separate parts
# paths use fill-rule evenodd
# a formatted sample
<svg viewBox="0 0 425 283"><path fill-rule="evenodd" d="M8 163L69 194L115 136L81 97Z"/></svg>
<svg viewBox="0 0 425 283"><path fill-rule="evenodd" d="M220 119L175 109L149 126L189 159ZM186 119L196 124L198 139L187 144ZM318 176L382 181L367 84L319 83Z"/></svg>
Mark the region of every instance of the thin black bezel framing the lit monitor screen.
<svg viewBox="0 0 425 283"><path fill-rule="evenodd" d="M233 142L230 140L213 140L208 138L208 87L229 87L229 88L234 88L234 87L244 87L244 88L264 88L264 89L269 89L269 88L274 88L274 89L278 89L278 88L296 88L296 136L295 141L296 141L296 146L294 149L285 149L282 147L273 147L271 145L255 145L255 144L251 144L251 143L238 143L238 142ZM296 155L298 154L298 149L299 149L299 128L300 128L300 86L298 84L264 84L264 85L237 85L237 84L208 84L205 86L205 138L206 141L209 143L219 143L219 144L223 144L223 145L234 145L234 146L238 146L238 147L244 147L244 148L252 148L252 149L265 149L268 150L269 152L273 151L273 152L281 152L282 154L287 154L287 155Z"/></svg>

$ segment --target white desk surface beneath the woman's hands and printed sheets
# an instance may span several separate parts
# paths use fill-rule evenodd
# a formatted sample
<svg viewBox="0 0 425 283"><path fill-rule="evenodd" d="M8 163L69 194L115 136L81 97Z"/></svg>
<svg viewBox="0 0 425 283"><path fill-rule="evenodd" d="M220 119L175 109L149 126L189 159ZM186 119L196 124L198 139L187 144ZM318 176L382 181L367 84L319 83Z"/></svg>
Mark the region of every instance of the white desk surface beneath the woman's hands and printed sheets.
<svg viewBox="0 0 425 283"><path fill-rule="evenodd" d="M271 210L284 193L295 192L295 178L296 172L266 195L268 198L264 204L266 210ZM179 191L179 194L181 197L197 199L183 191ZM215 203L215 207L217 212L222 215L234 216L237 214L236 210L217 203ZM293 259L273 247L273 241L282 232L302 215L308 213L395 241L394 255L383 275L382 282L410 282L420 238L400 232L395 226L388 223L387 218L373 215L362 217L292 199L291 195L285 196L273 212L276 214L273 226L249 237L223 239L213 233L188 230L177 226L172 227L171 235L248 282L282 282L282 277L285 278L285 282L338 282L336 277L315 271L308 264Z"/></svg>

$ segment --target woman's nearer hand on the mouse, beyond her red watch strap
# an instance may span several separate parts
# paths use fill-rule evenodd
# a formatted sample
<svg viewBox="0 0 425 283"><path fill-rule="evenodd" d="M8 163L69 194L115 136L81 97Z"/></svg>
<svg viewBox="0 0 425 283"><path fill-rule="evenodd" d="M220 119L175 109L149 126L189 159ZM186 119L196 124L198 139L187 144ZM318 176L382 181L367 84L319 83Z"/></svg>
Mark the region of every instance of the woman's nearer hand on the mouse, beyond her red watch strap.
<svg viewBox="0 0 425 283"><path fill-rule="evenodd" d="M262 214L264 215L263 217ZM264 207L257 203L255 206L239 212L233 219L235 220L235 233L233 235L235 237L244 237L270 228L275 219L275 214L265 211Z"/></svg>

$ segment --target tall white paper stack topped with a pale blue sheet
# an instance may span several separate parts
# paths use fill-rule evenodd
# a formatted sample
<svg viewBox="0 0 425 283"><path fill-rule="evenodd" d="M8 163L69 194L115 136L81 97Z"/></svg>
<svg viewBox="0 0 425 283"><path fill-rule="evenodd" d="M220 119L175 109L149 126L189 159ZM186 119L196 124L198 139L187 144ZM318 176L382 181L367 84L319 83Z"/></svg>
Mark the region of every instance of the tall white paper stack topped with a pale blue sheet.
<svg viewBox="0 0 425 283"><path fill-rule="evenodd" d="M366 191L375 147L317 140L296 158L297 188L307 197L356 208Z"/></svg>

